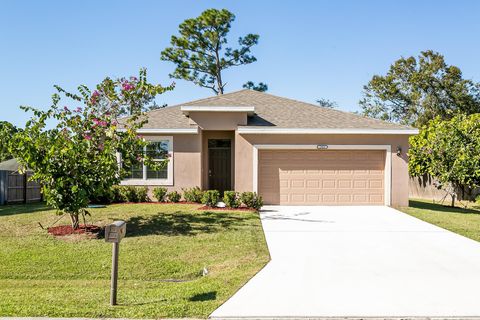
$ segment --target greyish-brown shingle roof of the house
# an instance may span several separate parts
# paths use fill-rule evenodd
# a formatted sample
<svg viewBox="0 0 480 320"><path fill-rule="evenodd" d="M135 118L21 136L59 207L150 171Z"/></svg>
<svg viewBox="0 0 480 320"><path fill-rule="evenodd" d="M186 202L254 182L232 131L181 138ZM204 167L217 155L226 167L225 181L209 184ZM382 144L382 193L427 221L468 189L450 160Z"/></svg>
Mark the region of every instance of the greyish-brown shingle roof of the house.
<svg viewBox="0 0 480 320"><path fill-rule="evenodd" d="M411 129L408 126L371 119L350 112L322 108L314 104L274 96L254 90L240 90L219 96L190 101L148 112L145 129L191 128L181 106L254 106L248 118L251 128L318 129Z"/></svg>

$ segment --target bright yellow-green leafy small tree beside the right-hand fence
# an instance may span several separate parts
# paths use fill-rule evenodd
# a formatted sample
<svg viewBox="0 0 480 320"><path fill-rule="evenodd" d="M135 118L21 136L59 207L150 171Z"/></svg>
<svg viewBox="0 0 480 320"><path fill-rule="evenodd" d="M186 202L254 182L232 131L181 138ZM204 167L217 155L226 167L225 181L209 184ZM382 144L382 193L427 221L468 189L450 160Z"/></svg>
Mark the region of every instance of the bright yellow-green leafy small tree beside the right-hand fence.
<svg viewBox="0 0 480 320"><path fill-rule="evenodd" d="M469 194L480 186L480 114L437 117L410 138L410 145L410 175L429 174L444 188Z"/></svg>

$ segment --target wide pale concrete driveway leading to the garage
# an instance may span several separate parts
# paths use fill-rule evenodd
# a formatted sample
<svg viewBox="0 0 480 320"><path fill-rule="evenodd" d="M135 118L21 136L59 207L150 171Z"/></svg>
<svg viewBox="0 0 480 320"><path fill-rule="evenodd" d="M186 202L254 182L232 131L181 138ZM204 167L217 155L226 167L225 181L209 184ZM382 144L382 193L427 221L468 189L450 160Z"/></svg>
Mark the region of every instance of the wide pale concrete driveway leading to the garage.
<svg viewBox="0 0 480 320"><path fill-rule="evenodd" d="M480 316L480 243L388 207L267 206L272 260L214 318Z"/></svg>

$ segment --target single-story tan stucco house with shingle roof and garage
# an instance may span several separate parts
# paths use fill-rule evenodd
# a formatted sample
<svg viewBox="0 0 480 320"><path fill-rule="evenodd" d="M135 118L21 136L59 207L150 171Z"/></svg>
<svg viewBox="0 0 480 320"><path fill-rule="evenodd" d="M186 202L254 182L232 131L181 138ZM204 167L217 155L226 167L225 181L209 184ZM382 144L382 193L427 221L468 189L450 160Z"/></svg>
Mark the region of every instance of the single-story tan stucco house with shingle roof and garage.
<svg viewBox="0 0 480 320"><path fill-rule="evenodd" d="M168 153L168 166L131 168L123 185L255 191L265 204L408 205L408 138L417 130L407 126L252 90L148 119L145 151Z"/></svg>

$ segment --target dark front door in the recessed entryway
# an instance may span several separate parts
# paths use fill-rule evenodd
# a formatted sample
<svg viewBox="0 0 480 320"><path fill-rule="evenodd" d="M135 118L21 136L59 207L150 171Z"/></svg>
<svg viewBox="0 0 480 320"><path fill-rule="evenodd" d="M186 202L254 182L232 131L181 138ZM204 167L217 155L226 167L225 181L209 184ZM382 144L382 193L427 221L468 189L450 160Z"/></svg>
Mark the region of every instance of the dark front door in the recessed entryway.
<svg viewBox="0 0 480 320"><path fill-rule="evenodd" d="M208 140L208 188L223 192L232 188L232 141Z"/></svg>

